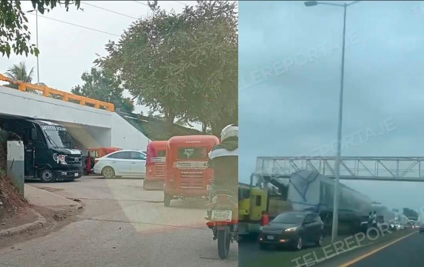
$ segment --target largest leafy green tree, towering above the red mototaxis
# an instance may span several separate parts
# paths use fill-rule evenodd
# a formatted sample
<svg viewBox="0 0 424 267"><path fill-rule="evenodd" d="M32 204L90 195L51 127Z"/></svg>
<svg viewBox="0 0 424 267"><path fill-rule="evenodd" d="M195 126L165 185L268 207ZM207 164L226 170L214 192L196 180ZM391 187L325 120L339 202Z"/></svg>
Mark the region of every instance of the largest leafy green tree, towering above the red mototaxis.
<svg viewBox="0 0 424 267"><path fill-rule="evenodd" d="M180 14L149 5L153 16L133 23L95 62L169 125L204 122L219 135L237 121L236 3L197 1Z"/></svg>

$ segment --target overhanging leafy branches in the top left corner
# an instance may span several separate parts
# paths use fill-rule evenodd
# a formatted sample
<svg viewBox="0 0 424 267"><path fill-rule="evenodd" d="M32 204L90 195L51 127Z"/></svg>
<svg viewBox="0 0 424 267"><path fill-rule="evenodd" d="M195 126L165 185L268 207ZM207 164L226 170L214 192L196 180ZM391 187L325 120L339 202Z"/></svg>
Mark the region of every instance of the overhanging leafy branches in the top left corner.
<svg viewBox="0 0 424 267"><path fill-rule="evenodd" d="M30 44L31 33L28 30L28 19L25 11L22 11L22 1L18 0L0 0L0 52L2 56L10 56L10 51L22 55L28 52L38 55L39 51L35 44ZM47 10L55 8L57 5L63 5L66 11L70 5L75 5L78 9L81 1L58 1L58 0L31 0L32 7L38 12L44 14Z"/></svg>

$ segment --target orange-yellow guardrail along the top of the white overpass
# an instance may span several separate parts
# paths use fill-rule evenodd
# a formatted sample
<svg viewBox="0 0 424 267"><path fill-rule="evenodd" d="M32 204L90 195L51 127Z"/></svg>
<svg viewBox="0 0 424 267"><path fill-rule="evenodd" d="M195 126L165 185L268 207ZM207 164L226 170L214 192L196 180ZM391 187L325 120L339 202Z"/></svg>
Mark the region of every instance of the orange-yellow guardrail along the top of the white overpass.
<svg viewBox="0 0 424 267"><path fill-rule="evenodd" d="M104 110L108 110L108 111L112 111L112 112L115 110L115 106L112 103L107 103L107 102L103 102L103 101L100 101L100 100L91 99L91 98L88 98L88 97L74 95L74 94L64 92L64 91L60 91L60 90L56 90L56 89L53 89L53 88L50 88L50 87L47 87L47 86L25 83L25 82L22 82L22 81L18 81L18 80L8 78L8 77L6 77L2 74L0 74L0 81L5 81L5 82L11 83L11 84L15 84L15 85L17 85L17 89L20 90L20 91L23 91L23 92L25 92L27 89L32 89L32 90L37 90L37 91L42 92L43 96L45 96L45 97L49 97L50 95L56 95L56 96L60 96L61 100L66 101L66 102L70 102L70 100L73 100L75 102L78 102L82 106L93 105L94 108L104 109ZM87 105L87 104L89 104L89 105Z"/></svg>

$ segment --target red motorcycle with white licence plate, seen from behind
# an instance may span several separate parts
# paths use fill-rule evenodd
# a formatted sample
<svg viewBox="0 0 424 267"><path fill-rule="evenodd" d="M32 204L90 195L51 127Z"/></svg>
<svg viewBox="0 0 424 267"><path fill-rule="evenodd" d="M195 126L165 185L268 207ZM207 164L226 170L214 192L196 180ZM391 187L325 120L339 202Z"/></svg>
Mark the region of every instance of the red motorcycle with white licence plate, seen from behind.
<svg viewBox="0 0 424 267"><path fill-rule="evenodd" d="M232 191L216 190L207 207L206 225L213 232L213 240L218 240L219 258L226 259L230 244L238 243L238 199Z"/></svg>

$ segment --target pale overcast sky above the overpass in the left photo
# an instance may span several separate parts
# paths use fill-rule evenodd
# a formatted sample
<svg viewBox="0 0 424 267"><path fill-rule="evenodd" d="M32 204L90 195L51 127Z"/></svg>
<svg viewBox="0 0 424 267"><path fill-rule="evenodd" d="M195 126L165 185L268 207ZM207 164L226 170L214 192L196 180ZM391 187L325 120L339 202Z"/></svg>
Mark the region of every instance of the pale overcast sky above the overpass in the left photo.
<svg viewBox="0 0 424 267"><path fill-rule="evenodd" d="M74 25L65 24L44 17L38 18L38 42L39 42L39 66L40 82L49 87L62 91L70 91L77 84L82 84L81 75L84 71L89 71L92 63L97 58L96 53L105 56L105 44L108 40L118 40L129 25L135 21L131 17L146 17L151 14L146 0L136 1L82 1L81 7L76 10L71 6L66 12L64 8L57 7L45 12L43 16L66 21L73 24L101 30L108 33L97 32ZM159 5L167 11L174 9L181 12L184 3L191 1L159 1ZM88 4L113 10L131 17L112 13ZM193 2L195 4L195 2ZM30 1L22 1L22 10L31 10ZM29 20L29 30L31 41L35 43L35 16L27 14ZM116 36L118 35L118 36ZM28 67L34 67L33 82L37 82L36 57L33 55L16 56L10 58L0 57L0 73L4 73L12 64L25 61ZM135 112L148 110L137 106Z"/></svg>

